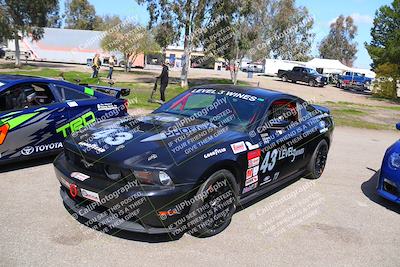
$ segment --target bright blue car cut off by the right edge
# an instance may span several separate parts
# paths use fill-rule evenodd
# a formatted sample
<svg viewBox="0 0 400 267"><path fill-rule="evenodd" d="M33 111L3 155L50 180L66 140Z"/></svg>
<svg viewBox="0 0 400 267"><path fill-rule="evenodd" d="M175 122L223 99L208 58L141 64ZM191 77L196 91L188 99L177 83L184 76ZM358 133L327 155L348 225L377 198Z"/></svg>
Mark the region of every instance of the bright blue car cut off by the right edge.
<svg viewBox="0 0 400 267"><path fill-rule="evenodd" d="M400 123L396 128L400 130ZM386 150L378 180L378 194L400 204L400 141Z"/></svg>

